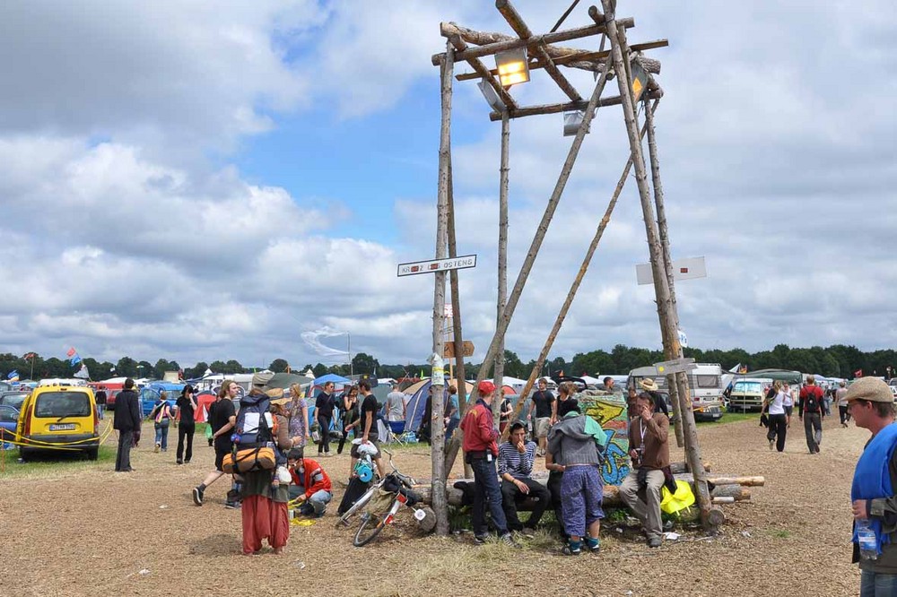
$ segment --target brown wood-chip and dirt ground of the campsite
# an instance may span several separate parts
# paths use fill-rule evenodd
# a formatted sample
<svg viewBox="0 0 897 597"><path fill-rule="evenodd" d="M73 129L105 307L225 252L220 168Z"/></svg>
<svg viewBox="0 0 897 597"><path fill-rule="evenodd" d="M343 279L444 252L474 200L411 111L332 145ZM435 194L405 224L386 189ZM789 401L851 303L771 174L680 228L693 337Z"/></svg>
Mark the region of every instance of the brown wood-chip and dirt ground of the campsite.
<svg viewBox="0 0 897 597"><path fill-rule="evenodd" d="M200 437L184 466L174 463L173 447L153 454L147 446L132 453L130 474L112 472L110 463L59 463L0 479L0 594L858 594L849 485L868 432L828 417L818 455L807 454L797 419L783 454L769 450L751 421L699 433L714 474L763 475L766 486L753 488L749 502L723 506L727 523L717 537L685 530L681 540L648 549L633 533L603 528L601 554L579 558L558 555L549 532L521 541L523 549L476 546L470 533L419 536L408 510L368 547L353 548L354 530L335 529L335 504L314 525L293 526L283 555L266 548L247 558L239 511L222 506L225 481L206 491L204 506L191 501L190 489L213 468ZM338 504L348 456L321 462ZM396 463L429 476L425 449L400 450Z"/></svg>

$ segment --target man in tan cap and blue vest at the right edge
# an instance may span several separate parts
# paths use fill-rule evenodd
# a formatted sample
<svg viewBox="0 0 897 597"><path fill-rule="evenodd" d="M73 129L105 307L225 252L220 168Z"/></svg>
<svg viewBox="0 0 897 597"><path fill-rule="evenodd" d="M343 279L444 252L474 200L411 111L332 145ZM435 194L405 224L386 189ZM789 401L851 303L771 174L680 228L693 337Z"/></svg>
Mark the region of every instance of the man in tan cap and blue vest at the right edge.
<svg viewBox="0 0 897 597"><path fill-rule="evenodd" d="M853 474L853 562L859 562L860 595L897 594L897 425L891 388L862 377L847 392L857 427L872 437Z"/></svg>

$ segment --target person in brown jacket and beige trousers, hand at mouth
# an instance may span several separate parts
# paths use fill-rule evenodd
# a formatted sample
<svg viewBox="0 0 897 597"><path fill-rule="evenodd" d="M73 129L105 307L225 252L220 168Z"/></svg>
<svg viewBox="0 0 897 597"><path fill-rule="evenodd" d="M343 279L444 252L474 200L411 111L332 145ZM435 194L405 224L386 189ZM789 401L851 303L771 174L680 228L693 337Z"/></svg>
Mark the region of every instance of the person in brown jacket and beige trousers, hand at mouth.
<svg viewBox="0 0 897 597"><path fill-rule="evenodd" d="M645 392L635 399L635 415L629 427L632 470L620 485L620 498L641 521L648 547L658 548L662 542L660 489L664 486L663 469L670 464L670 421L654 411L654 400ZM639 497L642 489L644 499Z"/></svg>

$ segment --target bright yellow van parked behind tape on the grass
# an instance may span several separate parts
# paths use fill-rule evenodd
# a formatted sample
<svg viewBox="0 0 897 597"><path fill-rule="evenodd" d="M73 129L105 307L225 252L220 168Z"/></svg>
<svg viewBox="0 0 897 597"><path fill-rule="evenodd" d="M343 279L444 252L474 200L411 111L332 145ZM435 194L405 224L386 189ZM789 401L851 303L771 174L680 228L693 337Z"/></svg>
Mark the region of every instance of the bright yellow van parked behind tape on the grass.
<svg viewBox="0 0 897 597"><path fill-rule="evenodd" d="M93 390L86 385L39 385L22 402L16 434L23 461L38 452L71 450L96 460L100 418Z"/></svg>

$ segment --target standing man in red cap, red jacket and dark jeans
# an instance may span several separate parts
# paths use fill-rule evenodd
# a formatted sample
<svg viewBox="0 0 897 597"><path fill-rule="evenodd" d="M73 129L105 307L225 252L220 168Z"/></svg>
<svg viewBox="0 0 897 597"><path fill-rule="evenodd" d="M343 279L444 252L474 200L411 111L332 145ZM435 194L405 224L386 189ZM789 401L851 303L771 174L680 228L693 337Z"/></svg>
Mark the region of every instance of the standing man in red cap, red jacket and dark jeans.
<svg viewBox="0 0 897 597"><path fill-rule="evenodd" d="M482 381L477 385L476 393L479 400L461 421L461 430L464 431L462 448L465 462L474 469L474 506L471 512L474 540L477 543L484 543L488 536L489 529L485 521L485 501L488 497L492 523L501 541L513 545L504 510L501 509L501 487L498 473L495 471L495 461L499 455L499 446L495 443L499 437L499 430L492 423L492 396L495 394L495 385L491 381Z"/></svg>

